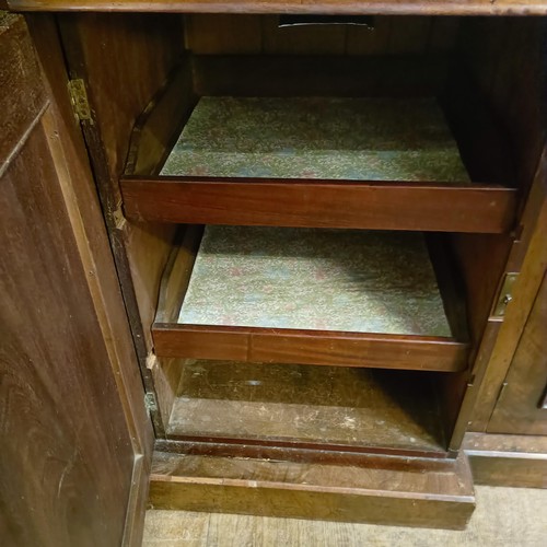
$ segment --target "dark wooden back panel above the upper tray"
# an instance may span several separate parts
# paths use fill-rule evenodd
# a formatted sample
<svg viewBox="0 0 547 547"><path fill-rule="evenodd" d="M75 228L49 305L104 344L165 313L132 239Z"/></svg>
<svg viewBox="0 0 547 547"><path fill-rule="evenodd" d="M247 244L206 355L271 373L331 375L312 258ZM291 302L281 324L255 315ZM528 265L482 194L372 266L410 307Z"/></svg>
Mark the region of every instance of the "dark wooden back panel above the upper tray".
<svg viewBox="0 0 547 547"><path fill-rule="evenodd" d="M278 15L186 15L186 47L198 55L391 55L445 53L456 18L377 16L364 25L279 27Z"/></svg>

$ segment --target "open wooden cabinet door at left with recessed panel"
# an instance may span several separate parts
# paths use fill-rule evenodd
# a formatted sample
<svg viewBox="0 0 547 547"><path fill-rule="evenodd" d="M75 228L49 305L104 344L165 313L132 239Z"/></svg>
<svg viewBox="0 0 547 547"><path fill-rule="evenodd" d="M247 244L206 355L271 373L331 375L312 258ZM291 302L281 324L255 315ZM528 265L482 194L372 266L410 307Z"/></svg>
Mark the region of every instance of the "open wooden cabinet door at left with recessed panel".
<svg viewBox="0 0 547 547"><path fill-rule="evenodd" d="M138 544L152 427L56 26L28 21L0 12L0 543Z"/></svg>

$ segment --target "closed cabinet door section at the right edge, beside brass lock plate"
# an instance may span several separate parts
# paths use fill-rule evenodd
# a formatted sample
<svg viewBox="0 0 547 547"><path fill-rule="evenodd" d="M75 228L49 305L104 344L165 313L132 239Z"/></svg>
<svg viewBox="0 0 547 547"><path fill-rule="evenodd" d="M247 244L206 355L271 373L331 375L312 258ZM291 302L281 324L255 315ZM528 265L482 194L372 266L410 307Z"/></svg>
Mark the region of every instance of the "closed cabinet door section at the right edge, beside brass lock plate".
<svg viewBox="0 0 547 547"><path fill-rule="evenodd" d="M488 423L488 433L547 435L547 408L543 407L547 387L546 329L547 277L544 277Z"/></svg>

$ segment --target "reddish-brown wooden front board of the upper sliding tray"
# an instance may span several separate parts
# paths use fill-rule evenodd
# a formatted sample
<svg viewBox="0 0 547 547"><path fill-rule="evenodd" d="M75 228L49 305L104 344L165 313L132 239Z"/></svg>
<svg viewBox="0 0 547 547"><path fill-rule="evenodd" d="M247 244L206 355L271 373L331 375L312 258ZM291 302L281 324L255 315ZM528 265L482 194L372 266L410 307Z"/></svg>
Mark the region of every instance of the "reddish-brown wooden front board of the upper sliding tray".
<svg viewBox="0 0 547 547"><path fill-rule="evenodd" d="M203 224L504 232L514 190L482 185L124 177L135 220Z"/></svg>

